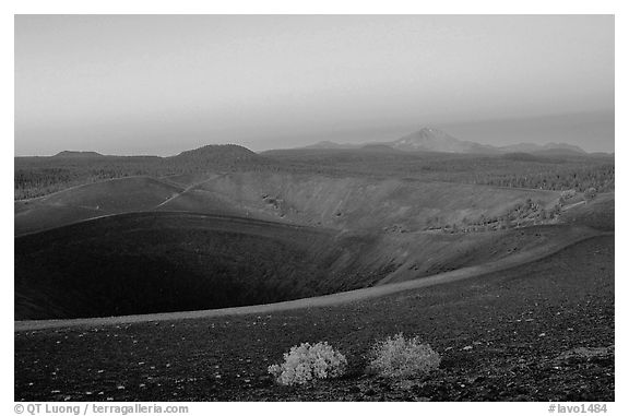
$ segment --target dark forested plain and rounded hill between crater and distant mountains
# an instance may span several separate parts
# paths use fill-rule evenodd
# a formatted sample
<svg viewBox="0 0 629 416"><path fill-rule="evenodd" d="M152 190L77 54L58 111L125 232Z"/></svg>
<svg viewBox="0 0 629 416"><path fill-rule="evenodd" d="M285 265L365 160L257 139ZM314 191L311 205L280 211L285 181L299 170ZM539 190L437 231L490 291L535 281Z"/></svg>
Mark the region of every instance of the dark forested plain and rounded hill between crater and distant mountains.
<svg viewBox="0 0 629 416"><path fill-rule="evenodd" d="M584 192L614 190L613 157L539 157L526 154L378 154L285 152L258 155L235 145L205 146L174 157L15 157L14 199L130 176L167 177L234 170L275 170L331 176L401 177L426 181Z"/></svg>

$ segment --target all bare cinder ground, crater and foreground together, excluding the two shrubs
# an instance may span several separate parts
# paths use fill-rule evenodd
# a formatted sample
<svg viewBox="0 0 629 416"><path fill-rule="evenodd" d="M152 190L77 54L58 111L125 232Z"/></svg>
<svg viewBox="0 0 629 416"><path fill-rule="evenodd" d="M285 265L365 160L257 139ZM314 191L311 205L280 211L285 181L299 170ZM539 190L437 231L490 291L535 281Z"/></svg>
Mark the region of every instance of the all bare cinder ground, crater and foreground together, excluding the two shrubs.
<svg viewBox="0 0 629 416"><path fill-rule="evenodd" d="M614 192L476 229L560 192L282 166L16 201L15 400L614 400ZM396 332L440 369L366 373ZM317 341L348 373L276 385Z"/></svg>

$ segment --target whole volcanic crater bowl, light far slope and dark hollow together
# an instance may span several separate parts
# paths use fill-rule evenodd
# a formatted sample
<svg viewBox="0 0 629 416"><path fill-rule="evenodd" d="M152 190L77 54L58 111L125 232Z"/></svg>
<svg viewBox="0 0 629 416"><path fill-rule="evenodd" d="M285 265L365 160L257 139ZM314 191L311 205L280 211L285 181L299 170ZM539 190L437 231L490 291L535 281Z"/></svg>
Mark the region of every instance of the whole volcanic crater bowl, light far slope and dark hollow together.
<svg viewBox="0 0 629 416"><path fill-rule="evenodd" d="M217 309L418 278L557 233L449 235L429 230L435 221L474 221L531 199L550 206L557 198L277 173L91 183L16 203L15 318Z"/></svg>

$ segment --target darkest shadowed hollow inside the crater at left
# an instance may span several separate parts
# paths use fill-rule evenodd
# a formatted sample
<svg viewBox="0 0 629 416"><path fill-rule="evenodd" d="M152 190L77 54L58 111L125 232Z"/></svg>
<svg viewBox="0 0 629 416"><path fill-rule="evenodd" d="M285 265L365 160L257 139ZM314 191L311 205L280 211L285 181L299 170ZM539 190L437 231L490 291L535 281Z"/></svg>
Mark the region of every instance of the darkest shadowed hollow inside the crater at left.
<svg viewBox="0 0 629 416"><path fill-rule="evenodd" d="M78 223L15 239L15 319L216 309L358 288L387 272L359 262L373 241L190 213Z"/></svg>

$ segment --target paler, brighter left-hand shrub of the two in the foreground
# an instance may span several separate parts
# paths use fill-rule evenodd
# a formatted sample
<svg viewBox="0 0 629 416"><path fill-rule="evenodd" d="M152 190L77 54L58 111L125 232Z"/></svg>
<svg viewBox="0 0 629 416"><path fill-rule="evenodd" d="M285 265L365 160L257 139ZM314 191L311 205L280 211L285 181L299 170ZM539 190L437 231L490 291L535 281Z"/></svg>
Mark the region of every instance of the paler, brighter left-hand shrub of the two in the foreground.
<svg viewBox="0 0 629 416"><path fill-rule="evenodd" d="M345 372L347 359L327 342L302 343L284 353L284 362L269 367L280 384L306 384L313 379L330 379Z"/></svg>

